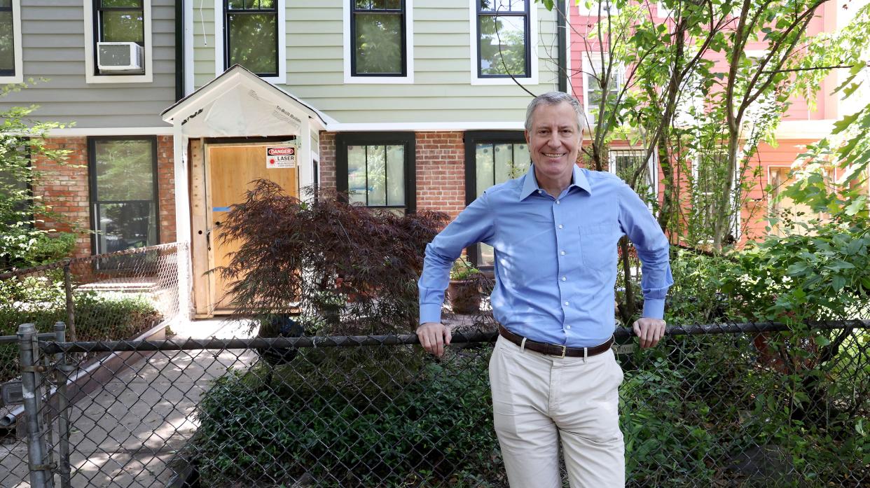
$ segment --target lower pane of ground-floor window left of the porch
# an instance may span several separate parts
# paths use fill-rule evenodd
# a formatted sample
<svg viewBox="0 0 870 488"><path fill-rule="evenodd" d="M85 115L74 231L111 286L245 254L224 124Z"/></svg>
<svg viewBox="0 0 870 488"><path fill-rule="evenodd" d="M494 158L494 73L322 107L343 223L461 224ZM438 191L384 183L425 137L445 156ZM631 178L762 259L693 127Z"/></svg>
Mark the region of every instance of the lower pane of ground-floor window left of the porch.
<svg viewBox="0 0 870 488"><path fill-rule="evenodd" d="M153 202L97 204L97 252L124 251L157 244Z"/></svg>

